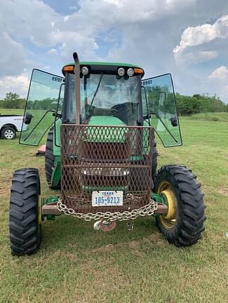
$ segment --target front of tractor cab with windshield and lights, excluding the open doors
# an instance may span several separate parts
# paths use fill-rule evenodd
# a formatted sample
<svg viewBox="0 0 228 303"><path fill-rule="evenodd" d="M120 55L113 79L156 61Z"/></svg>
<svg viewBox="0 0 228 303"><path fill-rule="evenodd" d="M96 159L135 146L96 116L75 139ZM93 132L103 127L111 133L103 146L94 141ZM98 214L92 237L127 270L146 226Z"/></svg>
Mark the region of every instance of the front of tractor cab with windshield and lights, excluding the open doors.
<svg viewBox="0 0 228 303"><path fill-rule="evenodd" d="M63 74L69 66L63 67ZM73 69L73 66L72 66ZM135 72L136 70L136 72ZM130 74L130 76L128 76ZM142 125L140 86L142 69L97 63L81 67L80 123ZM63 123L76 123L75 76L67 72Z"/></svg>

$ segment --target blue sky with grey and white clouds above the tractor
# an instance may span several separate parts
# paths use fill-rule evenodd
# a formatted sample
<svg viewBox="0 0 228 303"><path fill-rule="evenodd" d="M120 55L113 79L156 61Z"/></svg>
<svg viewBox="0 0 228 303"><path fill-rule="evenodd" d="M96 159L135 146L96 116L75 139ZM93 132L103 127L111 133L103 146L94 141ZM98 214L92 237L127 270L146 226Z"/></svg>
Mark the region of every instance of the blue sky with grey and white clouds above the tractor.
<svg viewBox="0 0 228 303"><path fill-rule="evenodd" d="M227 0L0 0L0 98L26 97L33 68L61 75L72 53L129 62L175 91L228 103Z"/></svg>

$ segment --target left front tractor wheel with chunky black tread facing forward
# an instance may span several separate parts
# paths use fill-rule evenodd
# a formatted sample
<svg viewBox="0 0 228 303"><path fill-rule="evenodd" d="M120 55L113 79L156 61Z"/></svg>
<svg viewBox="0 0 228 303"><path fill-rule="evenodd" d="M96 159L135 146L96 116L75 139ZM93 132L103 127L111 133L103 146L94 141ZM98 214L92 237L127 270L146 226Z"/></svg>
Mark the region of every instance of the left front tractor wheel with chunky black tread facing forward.
<svg viewBox="0 0 228 303"><path fill-rule="evenodd" d="M31 255L41 244L40 182L36 168L15 170L11 186L9 229L12 255Z"/></svg>

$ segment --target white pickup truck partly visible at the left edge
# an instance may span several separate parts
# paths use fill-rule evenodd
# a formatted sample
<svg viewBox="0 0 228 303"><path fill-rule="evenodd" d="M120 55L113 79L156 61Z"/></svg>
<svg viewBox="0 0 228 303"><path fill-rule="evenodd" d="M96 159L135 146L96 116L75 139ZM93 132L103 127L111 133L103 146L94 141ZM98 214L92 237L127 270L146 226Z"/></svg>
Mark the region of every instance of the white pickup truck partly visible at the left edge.
<svg viewBox="0 0 228 303"><path fill-rule="evenodd" d="M1 115L0 114L0 137L3 139L14 139L16 132L21 130L23 121L22 115ZM27 126L24 124L23 130Z"/></svg>

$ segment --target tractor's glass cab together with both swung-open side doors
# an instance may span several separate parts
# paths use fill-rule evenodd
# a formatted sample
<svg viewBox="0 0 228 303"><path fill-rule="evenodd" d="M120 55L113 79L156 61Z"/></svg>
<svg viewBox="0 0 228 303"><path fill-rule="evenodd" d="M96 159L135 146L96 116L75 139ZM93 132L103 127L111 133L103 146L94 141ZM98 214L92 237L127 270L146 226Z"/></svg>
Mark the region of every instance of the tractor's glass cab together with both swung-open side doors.
<svg viewBox="0 0 228 303"><path fill-rule="evenodd" d="M62 68L62 76L34 69L20 143L39 144L54 124L76 123L74 63ZM152 126L165 147L182 144L170 74L143 79L137 65L112 62L80 62L79 123L107 126ZM57 125L57 126L56 126ZM55 146L60 147L57 132Z"/></svg>

